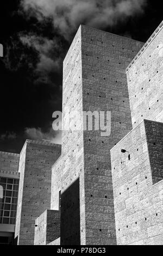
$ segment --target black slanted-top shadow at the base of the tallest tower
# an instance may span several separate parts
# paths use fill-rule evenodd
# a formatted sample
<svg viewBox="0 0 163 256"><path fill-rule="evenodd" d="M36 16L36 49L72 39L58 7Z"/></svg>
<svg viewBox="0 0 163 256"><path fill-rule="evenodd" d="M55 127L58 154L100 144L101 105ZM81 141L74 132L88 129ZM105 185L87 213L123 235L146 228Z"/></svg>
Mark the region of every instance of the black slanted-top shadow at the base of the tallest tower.
<svg viewBox="0 0 163 256"><path fill-rule="evenodd" d="M80 245L79 178L61 194L61 245Z"/></svg>

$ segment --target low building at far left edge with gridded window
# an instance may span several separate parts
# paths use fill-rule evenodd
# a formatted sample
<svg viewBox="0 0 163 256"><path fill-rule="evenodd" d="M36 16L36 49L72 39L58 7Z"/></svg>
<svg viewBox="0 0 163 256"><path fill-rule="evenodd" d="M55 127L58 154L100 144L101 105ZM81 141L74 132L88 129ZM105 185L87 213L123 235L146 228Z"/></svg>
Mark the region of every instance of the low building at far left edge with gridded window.
<svg viewBox="0 0 163 256"><path fill-rule="evenodd" d="M0 152L0 245L14 243L19 155Z"/></svg>

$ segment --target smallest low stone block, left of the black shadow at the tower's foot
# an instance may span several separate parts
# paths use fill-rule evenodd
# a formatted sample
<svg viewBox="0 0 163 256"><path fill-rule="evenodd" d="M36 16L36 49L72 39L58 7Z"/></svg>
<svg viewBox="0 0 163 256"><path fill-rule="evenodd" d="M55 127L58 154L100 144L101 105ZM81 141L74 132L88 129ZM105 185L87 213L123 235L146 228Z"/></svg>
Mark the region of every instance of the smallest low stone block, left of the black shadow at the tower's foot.
<svg viewBox="0 0 163 256"><path fill-rule="evenodd" d="M59 211L46 210L35 221L34 245L47 245L60 237Z"/></svg>

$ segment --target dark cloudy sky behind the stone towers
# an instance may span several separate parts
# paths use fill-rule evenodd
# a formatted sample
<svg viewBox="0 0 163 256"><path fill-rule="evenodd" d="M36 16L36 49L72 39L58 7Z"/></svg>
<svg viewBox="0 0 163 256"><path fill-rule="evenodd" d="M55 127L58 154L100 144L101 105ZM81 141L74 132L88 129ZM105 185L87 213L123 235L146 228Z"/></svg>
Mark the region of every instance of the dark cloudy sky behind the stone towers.
<svg viewBox="0 0 163 256"><path fill-rule="evenodd" d="M1 151L20 153L26 138L59 142L52 113L61 111L62 61L80 23L146 42L162 21L162 1L39 2L1 1Z"/></svg>

